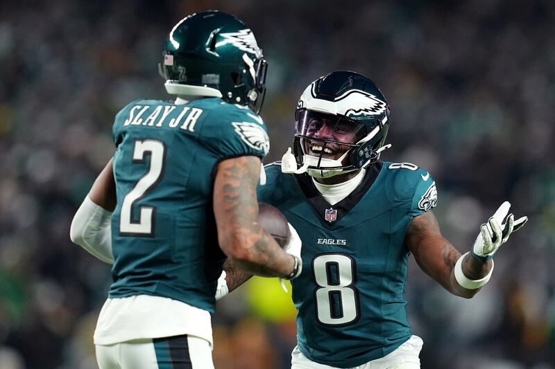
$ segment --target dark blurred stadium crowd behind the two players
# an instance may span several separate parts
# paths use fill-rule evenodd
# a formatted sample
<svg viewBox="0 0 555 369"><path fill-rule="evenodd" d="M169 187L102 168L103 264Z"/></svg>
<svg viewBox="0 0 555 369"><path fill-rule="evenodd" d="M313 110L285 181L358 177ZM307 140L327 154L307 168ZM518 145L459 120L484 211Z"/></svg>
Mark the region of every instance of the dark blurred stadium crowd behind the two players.
<svg viewBox="0 0 555 369"><path fill-rule="evenodd" d="M117 111L169 98L157 74L167 33L208 9L241 17L269 62L266 161L291 145L307 84L350 69L392 107L382 159L432 173L434 211L459 250L506 199L529 216L472 300L411 260L422 368L554 369L552 0L1 1L0 368L96 368L110 267L70 242L69 224L112 156ZM294 314L277 280L251 280L218 304L216 368L289 368Z"/></svg>

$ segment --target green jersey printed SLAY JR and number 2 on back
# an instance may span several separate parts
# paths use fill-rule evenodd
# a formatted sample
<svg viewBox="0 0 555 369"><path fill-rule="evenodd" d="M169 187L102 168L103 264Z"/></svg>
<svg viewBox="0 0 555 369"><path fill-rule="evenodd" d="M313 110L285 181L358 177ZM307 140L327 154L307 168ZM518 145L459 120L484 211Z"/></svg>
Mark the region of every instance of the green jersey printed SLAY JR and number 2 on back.
<svg viewBox="0 0 555 369"><path fill-rule="evenodd" d="M214 312L225 254L212 190L224 159L263 158L262 118L220 98L187 104L137 100L117 114L110 298L171 298Z"/></svg>

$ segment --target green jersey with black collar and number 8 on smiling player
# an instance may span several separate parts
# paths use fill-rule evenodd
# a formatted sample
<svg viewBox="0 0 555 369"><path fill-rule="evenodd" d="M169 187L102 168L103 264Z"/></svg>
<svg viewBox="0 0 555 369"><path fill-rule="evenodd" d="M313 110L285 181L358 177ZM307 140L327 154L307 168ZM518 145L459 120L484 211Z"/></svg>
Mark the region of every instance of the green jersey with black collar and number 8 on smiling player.
<svg viewBox="0 0 555 369"><path fill-rule="evenodd" d="M378 161L333 206L307 174L268 165L266 177L259 201L280 209L302 240L302 273L291 281L302 354L351 368L407 341L404 237L411 219L437 204L432 176L409 163Z"/></svg>

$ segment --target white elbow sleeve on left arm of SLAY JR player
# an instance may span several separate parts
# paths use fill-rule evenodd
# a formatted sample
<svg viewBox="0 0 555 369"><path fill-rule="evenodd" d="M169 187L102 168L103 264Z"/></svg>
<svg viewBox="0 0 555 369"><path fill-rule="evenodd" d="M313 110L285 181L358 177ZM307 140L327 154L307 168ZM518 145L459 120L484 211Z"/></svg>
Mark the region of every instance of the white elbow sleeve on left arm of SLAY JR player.
<svg viewBox="0 0 555 369"><path fill-rule="evenodd" d="M114 264L111 222L112 212L94 204L87 195L71 222L69 237L95 258Z"/></svg>

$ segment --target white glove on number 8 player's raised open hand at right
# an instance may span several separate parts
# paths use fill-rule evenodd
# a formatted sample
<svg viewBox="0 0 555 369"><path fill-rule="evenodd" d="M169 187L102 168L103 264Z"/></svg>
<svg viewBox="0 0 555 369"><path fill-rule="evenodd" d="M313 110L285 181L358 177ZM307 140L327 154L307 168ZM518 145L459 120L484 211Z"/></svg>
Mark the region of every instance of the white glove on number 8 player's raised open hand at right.
<svg viewBox="0 0 555 369"><path fill-rule="evenodd" d="M487 262L497 252L502 244L509 240L511 233L518 231L526 222L528 217L521 217L515 220L513 213L509 213L511 204L505 201L493 217L487 223L482 224L480 233L472 245L472 257L482 262Z"/></svg>

